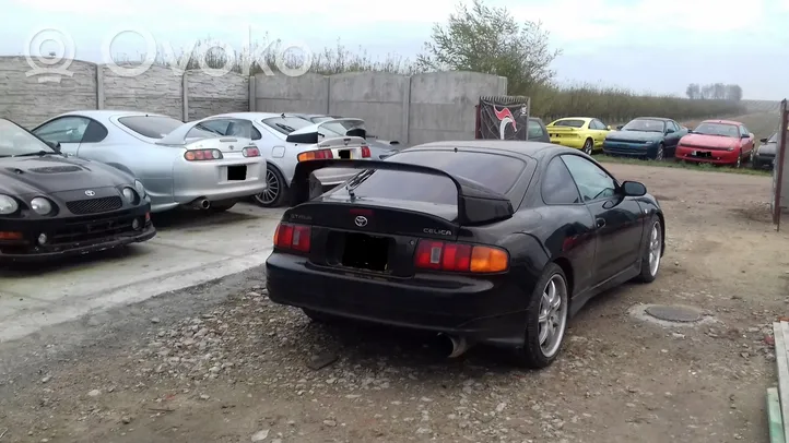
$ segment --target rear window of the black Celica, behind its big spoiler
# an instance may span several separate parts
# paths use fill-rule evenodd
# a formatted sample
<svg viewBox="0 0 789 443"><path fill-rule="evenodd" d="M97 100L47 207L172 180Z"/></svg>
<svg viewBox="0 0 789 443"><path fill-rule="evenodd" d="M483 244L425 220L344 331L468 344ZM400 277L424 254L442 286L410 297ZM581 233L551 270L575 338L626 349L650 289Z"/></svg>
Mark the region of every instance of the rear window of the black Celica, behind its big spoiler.
<svg viewBox="0 0 789 443"><path fill-rule="evenodd" d="M457 177L475 181L502 194L513 189L523 171L521 159L484 153L447 151L402 151L389 160L429 166ZM332 193L348 194L345 188ZM393 170L377 170L354 189L356 196L410 200L437 204L458 202L458 193L451 180L444 177Z"/></svg>

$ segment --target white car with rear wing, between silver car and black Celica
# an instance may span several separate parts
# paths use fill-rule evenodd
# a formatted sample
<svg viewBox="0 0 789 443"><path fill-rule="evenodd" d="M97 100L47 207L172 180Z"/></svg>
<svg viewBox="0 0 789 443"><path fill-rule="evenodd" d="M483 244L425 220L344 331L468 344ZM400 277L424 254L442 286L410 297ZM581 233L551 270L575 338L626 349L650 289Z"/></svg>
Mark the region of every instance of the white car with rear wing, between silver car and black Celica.
<svg viewBox="0 0 789 443"><path fill-rule="evenodd" d="M296 115L271 112L233 112L200 120L200 125L226 134L227 119L249 121L252 142L267 159L268 188L255 196L263 207L276 207L288 201L293 172L298 161L314 158L369 159L370 149L365 141L361 119L331 119L314 123ZM344 123L349 131L337 132L322 127ZM354 127L357 125L357 129ZM323 189L334 188L358 173L355 169L325 168L315 172Z"/></svg>

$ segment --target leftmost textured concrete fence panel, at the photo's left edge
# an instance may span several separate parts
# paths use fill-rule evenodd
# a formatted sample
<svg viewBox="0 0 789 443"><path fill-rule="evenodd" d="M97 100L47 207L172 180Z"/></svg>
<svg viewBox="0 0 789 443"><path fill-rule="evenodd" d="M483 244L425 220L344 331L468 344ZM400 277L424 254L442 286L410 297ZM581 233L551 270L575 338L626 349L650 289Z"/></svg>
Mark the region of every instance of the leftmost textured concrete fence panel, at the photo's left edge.
<svg viewBox="0 0 789 443"><path fill-rule="evenodd" d="M28 75L24 57L0 57L0 117L30 129L62 112L96 109L96 64L72 60L63 72Z"/></svg>

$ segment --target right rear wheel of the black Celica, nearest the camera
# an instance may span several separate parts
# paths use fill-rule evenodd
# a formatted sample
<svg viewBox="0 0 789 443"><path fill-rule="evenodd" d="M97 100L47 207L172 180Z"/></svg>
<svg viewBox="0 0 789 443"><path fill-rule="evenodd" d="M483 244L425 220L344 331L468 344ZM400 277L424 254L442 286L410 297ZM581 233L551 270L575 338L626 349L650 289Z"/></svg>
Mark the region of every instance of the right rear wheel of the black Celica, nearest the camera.
<svg viewBox="0 0 789 443"><path fill-rule="evenodd" d="M551 292L553 285L553 292ZM550 294L558 298L558 306L551 303ZM569 286L558 265L550 263L538 279L527 309L523 346L516 350L516 363L530 369L550 366L558 356L567 330L569 313ZM547 312L545 312L547 310ZM546 318L541 325L541 318ZM549 326L551 325L551 326ZM550 327L550 330L545 330ZM551 333L551 331L554 331ZM541 335L546 334L543 339ZM545 346L547 345L547 346Z"/></svg>

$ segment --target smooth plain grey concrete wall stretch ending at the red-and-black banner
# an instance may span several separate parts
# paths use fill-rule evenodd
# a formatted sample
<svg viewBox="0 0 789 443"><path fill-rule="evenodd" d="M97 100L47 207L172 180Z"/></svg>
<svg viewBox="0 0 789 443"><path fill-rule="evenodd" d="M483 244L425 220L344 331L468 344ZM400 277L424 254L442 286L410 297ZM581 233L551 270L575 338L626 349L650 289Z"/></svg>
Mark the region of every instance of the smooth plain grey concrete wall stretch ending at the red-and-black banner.
<svg viewBox="0 0 789 443"><path fill-rule="evenodd" d="M254 89L257 111L358 117L372 134L414 145L473 139L480 96L505 95L507 80L476 72L258 74Z"/></svg>

